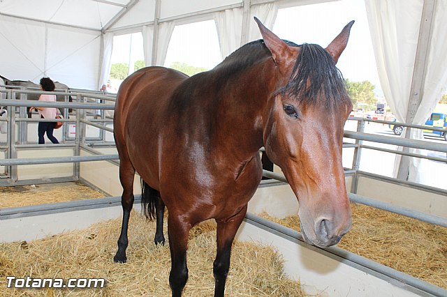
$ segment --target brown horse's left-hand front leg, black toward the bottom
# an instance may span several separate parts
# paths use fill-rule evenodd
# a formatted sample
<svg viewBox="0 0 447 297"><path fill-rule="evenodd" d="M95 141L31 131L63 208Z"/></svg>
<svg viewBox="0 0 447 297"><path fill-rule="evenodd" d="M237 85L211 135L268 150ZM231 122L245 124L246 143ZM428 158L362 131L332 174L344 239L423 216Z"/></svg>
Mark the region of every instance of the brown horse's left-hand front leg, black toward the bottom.
<svg viewBox="0 0 447 297"><path fill-rule="evenodd" d="M173 297L182 296L183 288L188 280L188 267L186 266L186 249L188 248L188 234L191 229L189 222L180 220L172 213L168 216L168 236L171 268L169 285Z"/></svg>

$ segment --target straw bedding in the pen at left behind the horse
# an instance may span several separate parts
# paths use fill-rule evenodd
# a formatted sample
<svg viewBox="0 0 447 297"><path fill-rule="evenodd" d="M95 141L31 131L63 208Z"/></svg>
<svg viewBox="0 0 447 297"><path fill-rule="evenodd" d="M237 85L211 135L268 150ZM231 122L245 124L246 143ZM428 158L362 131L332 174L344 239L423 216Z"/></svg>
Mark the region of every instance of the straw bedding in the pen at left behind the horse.
<svg viewBox="0 0 447 297"><path fill-rule="evenodd" d="M105 194L80 182L0 187L0 208L103 198Z"/></svg>

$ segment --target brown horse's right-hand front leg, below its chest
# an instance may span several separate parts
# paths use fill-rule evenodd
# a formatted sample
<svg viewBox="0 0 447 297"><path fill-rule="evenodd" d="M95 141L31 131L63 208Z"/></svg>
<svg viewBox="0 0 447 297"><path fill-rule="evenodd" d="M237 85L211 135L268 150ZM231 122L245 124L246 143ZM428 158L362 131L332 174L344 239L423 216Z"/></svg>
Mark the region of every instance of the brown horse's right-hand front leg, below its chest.
<svg viewBox="0 0 447 297"><path fill-rule="evenodd" d="M237 229L244 220L245 213L247 213L247 206L244 206L239 213L229 219L216 220L217 255L213 265L214 279L216 280L214 296L223 296L225 291L226 277L230 268L231 245L235 239Z"/></svg>

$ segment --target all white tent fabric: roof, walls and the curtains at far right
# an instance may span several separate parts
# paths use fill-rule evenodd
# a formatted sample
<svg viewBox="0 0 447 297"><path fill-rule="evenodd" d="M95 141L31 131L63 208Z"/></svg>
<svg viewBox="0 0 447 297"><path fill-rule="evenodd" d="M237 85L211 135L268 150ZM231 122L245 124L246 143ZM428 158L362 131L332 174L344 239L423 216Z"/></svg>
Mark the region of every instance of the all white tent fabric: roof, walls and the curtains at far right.
<svg viewBox="0 0 447 297"><path fill-rule="evenodd" d="M254 15L272 28L279 8L327 1L1 0L0 75L97 90L110 73L114 35L141 32L146 65L163 65L175 25L214 20L223 58L260 37ZM381 85L400 121L423 123L445 91L446 2L365 0Z"/></svg>

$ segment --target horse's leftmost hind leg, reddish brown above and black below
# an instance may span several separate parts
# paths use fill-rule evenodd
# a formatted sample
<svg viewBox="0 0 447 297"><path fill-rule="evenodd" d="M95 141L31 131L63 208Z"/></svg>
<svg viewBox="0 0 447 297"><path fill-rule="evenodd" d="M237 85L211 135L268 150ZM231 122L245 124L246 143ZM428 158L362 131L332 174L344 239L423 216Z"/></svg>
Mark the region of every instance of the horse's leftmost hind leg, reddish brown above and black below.
<svg viewBox="0 0 447 297"><path fill-rule="evenodd" d="M119 181L123 187L123 195L121 197L121 205L123 208L123 222L121 226L121 234L118 239L118 251L113 257L116 263L125 263L126 248L129 244L127 238L127 229L129 227L129 218L133 206L133 177L135 176L135 169L133 169L129 160L121 160L119 164Z"/></svg>

